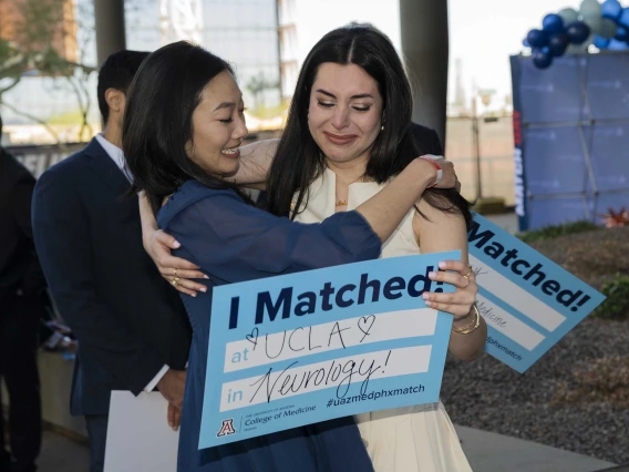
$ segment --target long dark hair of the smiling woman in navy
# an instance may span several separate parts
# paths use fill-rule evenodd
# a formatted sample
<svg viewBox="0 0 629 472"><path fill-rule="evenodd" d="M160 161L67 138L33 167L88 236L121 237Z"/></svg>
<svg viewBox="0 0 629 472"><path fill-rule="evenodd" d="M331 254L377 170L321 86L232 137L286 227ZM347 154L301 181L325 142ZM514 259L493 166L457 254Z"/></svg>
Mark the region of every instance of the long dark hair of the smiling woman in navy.
<svg viewBox="0 0 629 472"><path fill-rule="evenodd" d="M133 174L131 192L144 191L154 212L164 197L189 179L239 193L235 185L207 174L186 153L186 144L193 138L193 112L203 90L224 71L233 73L226 61L179 41L148 55L131 84L122 146Z"/></svg>

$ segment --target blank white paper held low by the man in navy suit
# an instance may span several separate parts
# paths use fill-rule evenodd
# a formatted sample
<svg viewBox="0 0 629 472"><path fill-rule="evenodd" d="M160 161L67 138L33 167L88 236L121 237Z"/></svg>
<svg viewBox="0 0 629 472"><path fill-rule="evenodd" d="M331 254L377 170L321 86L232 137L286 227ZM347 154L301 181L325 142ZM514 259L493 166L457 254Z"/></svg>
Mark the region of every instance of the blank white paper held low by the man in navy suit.
<svg viewBox="0 0 629 472"><path fill-rule="evenodd" d="M168 427L159 392L113 391L105 472L175 472L179 432Z"/></svg>

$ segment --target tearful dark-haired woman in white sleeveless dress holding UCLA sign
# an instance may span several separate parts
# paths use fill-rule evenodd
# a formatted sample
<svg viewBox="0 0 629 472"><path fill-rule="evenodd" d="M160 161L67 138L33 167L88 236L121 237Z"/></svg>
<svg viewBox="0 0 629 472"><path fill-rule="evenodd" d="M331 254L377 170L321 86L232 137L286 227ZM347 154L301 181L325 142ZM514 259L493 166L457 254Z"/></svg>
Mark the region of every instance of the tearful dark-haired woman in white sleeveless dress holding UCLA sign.
<svg viewBox="0 0 629 472"><path fill-rule="evenodd" d="M417 155L411 132L412 94L389 41L369 25L328 33L305 61L283 136L241 150L237 181L258 188L272 160L269 211L319 223L355 208ZM274 160L275 155L275 160ZM439 165L439 161L436 161ZM467 264L468 203L457 191L426 191L383 245L381 257L460 249L461 261L444 261L431 276L457 287L455 294L424 294L426 304L454 315L450 351L470 361L485 343L486 326L475 305L475 275ZM199 286L194 266L164 257L173 239L145 237L162 274L181 277L178 289ZM421 247L421 250L420 250ZM468 472L456 432L441 402L355 417L375 472Z"/></svg>

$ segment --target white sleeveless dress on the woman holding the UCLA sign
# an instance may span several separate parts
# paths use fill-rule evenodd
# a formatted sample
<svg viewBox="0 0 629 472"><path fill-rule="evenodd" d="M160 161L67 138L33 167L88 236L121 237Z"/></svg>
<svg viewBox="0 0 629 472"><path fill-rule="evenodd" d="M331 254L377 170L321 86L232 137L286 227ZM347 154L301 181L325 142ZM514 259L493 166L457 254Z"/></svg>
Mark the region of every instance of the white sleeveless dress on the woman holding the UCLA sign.
<svg viewBox="0 0 629 472"><path fill-rule="evenodd" d="M348 211L375 195L383 185L350 185ZM310 186L308 206L295 218L320 223L334 213L336 174L329 168ZM410 212L382 246L381 257L420 254ZM443 403L374 411L354 417L375 472L472 472Z"/></svg>

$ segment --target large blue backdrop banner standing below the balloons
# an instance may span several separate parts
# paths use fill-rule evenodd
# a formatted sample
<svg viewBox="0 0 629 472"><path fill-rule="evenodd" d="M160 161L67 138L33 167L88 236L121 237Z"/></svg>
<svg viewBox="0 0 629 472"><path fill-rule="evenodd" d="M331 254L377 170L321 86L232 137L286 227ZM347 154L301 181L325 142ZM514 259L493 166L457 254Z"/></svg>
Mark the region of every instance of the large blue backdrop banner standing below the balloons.
<svg viewBox="0 0 629 472"><path fill-rule="evenodd" d="M511 58L519 230L629 205L628 58L566 54L546 70Z"/></svg>

